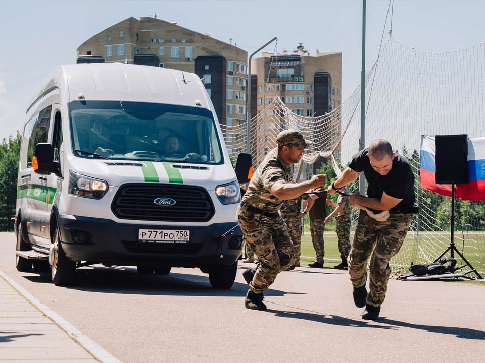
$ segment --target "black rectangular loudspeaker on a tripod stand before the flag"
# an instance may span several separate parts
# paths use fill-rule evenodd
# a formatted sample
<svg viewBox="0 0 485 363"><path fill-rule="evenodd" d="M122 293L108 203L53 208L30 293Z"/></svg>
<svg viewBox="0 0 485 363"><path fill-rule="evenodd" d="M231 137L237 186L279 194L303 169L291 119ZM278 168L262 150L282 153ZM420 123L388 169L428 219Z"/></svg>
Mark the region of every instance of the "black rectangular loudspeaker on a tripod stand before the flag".
<svg viewBox="0 0 485 363"><path fill-rule="evenodd" d="M436 135L436 184L468 183L468 135Z"/></svg>

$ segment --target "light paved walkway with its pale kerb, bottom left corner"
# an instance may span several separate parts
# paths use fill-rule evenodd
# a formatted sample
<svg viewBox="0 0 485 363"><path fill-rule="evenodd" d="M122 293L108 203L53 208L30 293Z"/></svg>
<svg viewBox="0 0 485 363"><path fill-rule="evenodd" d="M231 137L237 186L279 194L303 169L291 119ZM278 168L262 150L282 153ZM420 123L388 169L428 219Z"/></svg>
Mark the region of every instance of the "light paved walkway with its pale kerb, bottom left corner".
<svg viewBox="0 0 485 363"><path fill-rule="evenodd" d="M119 362L0 271L0 362L4 361Z"/></svg>

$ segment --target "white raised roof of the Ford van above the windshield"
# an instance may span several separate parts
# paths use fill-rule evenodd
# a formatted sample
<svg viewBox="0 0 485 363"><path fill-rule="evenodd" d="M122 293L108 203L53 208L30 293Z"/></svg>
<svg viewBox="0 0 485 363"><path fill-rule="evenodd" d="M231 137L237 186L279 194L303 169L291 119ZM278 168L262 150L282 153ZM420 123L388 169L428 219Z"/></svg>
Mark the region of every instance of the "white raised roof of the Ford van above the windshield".
<svg viewBox="0 0 485 363"><path fill-rule="evenodd" d="M116 100L169 103L210 107L200 78L189 72L122 63L88 63L57 67L42 83L34 104L53 88L59 88L63 102ZM30 107L29 107L30 108Z"/></svg>

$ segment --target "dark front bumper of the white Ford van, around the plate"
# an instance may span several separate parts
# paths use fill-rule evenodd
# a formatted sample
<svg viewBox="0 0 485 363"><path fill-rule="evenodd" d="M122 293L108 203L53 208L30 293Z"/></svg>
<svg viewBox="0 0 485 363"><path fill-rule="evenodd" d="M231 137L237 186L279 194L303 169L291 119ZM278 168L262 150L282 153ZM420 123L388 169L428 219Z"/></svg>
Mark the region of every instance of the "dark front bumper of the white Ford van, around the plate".
<svg viewBox="0 0 485 363"><path fill-rule="evenodd" d="M242 253L243 233L235 221L193 227L156 226L60 214L58 226L62 248L72 261L204 268L231 265ZM187 243L140 242L139 229L189 230L190 240Z"/></svg>

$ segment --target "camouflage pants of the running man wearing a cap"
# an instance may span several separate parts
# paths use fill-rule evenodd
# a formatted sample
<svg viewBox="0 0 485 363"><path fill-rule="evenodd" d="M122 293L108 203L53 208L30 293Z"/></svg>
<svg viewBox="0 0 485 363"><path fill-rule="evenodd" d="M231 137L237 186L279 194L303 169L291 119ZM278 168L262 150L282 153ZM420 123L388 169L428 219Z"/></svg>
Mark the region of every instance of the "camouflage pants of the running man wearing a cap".
<svg viewBox="0 0 485 363"><path fill-rule="evenodd" d="M248 204L237 208L237 221L243 230L246 243L259 260L251 291L264 292L274 282L279 272L292 266L295 250L283 218L276 214L268 217L248 211Z"/></svg>

